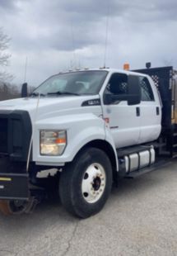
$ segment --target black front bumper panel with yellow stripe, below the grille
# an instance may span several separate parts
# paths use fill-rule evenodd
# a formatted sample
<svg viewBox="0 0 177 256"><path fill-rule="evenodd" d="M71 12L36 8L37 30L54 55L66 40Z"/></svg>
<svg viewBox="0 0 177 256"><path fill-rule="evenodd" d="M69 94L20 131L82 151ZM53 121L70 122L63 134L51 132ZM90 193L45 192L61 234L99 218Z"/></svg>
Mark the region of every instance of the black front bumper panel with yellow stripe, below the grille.
<svg viewBox="0 0 177 256"><path fill-rule="evenodd" d="M27 173L0 173L0 199L28 200L29 197Z"/></svg>

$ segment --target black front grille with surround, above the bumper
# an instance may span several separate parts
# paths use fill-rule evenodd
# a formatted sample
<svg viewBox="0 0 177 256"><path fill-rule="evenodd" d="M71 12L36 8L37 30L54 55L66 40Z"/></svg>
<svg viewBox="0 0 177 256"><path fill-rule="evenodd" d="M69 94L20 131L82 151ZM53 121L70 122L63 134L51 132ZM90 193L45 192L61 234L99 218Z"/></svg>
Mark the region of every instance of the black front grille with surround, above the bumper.
<svg viewBox="0 0 177 256"><path fill-rule="evenodd" d="M31 133L27 111L0 109L0 157L6 154L13 161L26 161Z"/></svg>

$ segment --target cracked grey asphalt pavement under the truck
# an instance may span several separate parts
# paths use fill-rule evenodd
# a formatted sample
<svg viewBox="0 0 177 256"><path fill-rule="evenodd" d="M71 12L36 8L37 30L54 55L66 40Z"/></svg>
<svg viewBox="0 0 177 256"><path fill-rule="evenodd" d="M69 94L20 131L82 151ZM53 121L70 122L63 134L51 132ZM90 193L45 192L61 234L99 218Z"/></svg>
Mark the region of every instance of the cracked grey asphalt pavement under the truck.
<svg viewBox="0 0 177 256"><path fill-rule="evenodd" d="M0 215L0 256L177 255L177 160L113 188L105 208L78 220L58 201Z"/></svg>

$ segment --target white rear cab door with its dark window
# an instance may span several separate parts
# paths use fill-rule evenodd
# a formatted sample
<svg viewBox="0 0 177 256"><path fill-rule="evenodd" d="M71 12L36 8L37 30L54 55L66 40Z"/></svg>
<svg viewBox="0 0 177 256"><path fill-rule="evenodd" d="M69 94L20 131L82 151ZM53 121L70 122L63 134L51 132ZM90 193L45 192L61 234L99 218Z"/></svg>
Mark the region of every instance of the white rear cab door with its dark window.
<svg viewBox="0 0 177 256"><path fill-rule="evenodd" d="M140 143L156 140L161 131L161 106L151 84L146 77L140 76L139 83L142 91L140 103Z"/></svg>

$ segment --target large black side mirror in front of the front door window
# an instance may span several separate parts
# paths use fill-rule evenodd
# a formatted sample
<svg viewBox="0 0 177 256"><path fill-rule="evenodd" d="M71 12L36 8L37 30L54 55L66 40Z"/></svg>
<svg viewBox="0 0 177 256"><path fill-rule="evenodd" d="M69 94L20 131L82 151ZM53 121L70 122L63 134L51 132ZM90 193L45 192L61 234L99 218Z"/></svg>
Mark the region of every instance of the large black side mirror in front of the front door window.
<svg viewBox="0 0 177 256"><path fill-rule="evenodd" d="M139 78L134 75L128 76L128 105L137 105L141 102L141 88Z"/></svg>

